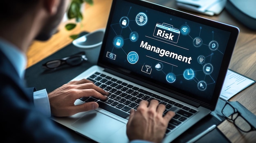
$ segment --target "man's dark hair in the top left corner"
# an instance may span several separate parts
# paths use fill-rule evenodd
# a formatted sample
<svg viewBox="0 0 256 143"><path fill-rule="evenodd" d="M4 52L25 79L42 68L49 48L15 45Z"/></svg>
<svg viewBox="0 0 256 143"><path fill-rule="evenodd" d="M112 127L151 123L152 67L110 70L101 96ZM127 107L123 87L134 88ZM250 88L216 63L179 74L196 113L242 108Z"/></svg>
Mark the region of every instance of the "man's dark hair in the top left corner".
<svg viewBox="0 0 256 143"><path fill-rule="evenodd" d="M17 20L39 0L0 0L0 20Z"/></svg>

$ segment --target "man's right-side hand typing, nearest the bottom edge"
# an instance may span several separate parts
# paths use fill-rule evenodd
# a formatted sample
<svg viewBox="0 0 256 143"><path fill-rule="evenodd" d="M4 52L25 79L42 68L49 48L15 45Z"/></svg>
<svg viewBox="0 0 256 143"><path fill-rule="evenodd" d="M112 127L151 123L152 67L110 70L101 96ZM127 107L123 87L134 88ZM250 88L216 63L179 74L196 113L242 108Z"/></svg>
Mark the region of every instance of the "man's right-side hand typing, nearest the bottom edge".
<svg viewBox="0 0 256 143"><path fill-rule="evenodd" d="M168 111L163 117L164 104L158 104L157 100L141 101L137 111L131 110L127 123L127 136L130 141L139 139L160 143L166 132L168 122L175 112Z"/></svg>

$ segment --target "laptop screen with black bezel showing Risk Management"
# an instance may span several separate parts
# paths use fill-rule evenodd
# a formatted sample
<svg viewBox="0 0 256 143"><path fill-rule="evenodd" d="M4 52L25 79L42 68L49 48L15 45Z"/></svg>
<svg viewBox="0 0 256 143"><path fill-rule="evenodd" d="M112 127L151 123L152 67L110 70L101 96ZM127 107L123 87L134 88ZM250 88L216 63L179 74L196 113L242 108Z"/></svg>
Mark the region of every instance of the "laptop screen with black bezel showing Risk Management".
<svg viewBox="0 0 256 143"><path fill-rule="evenodd" d="M114 0L98 64L215 106L234 29L148 2Z"/></svg>

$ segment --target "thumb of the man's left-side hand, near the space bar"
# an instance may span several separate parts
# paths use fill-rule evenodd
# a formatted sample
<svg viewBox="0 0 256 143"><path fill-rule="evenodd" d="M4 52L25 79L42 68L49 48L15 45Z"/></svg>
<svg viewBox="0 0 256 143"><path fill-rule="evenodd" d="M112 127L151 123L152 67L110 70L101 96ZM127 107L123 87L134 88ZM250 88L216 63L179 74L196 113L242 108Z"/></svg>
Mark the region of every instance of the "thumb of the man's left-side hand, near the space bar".
<svg viewBox="0 0 256 143"><path fill-rule="evenodd" d="M87 102L87 103L83 103L81 105L72 106L72 112L79 113L79 112L94 110L96 108L99 108L98 103L96 103L96 102Z"/></svg>

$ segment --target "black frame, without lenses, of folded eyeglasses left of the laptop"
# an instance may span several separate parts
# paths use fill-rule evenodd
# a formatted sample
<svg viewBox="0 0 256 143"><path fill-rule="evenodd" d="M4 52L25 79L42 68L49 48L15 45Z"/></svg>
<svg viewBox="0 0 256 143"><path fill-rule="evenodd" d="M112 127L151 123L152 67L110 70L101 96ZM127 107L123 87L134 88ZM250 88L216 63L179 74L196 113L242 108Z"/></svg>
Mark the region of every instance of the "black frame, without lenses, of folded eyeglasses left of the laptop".
<svg viewBox="0 0 256 143"><path fill-rule="evenodd" d="M78 64L70 64L69 62L67 62L68 59L72 59L72 58L75 58L75 57L79 57L81 58L81 62L79 62ZM54 59L54 60L50 60L44 64L42 64L42 66L46 67L46 68L49 68L49 69L54 69L54 68L58 68L64 64L67 64L69 66L78 66L79 64L81 64L83 61L87 61L87 57L85 55L85 52L84 51L81 51L79 53L76 53L74 55L71 55L71 56L68 56L68 57L63 57L62 59ZM58 64L57 66L54 66L54 67L49 67L47 64L48 63L51 63L51 62L60 62L60 64Z"/></svg>

